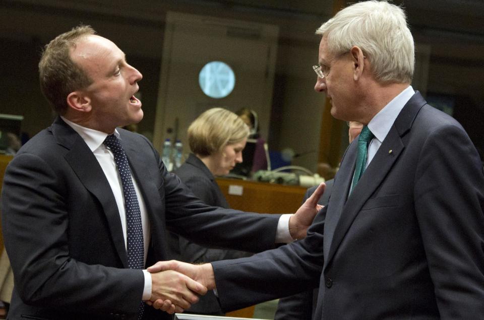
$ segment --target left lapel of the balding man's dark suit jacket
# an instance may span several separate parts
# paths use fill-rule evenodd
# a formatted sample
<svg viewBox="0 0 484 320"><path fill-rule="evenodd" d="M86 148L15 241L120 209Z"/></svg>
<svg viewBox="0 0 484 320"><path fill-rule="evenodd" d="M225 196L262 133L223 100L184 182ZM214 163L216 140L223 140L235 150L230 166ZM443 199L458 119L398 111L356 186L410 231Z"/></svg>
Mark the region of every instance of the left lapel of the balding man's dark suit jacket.
<svg viewBox="0 0 484 320"><path fill-rule="evenodd" d="M114 246L125 268L128 268L128 254L126 253L123 228L119 219L116 200L111 186L96 160L96 157L84 140L61 118L57 118L52 125L52 134L57 143L66 147L66 161L70 164L81 183L101 203L109 225Z"/></svg>

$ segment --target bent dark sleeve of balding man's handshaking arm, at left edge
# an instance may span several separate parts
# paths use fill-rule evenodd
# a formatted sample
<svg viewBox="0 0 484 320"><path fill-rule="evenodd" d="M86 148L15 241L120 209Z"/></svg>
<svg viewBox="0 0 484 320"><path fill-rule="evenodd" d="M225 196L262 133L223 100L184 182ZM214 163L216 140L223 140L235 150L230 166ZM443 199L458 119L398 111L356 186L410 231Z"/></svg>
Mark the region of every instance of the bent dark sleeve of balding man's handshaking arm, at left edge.
<svg viewBox="0 0 484 320"><path fill-rule="evenodd" d="M16 292L33 306L135 313L143 292L141 270L87 265L71 258L63 197L68 190L59 181L63 178L42 158L26 153L17 155L6 170L2 223Z"/></svg>

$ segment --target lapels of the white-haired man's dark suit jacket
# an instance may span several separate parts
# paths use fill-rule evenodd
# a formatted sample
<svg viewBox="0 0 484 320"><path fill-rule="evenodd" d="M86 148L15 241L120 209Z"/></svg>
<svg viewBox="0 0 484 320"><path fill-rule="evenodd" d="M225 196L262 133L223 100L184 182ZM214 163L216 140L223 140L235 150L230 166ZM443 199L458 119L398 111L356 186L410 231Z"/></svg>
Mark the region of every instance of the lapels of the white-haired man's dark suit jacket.
<svg viewBox="0 0 484 320"><path fill-rule="evenodd" d="M418 92L406 103L372 162L368 165L365 173L361 176L358 184L346 200L345 198L354 171L354 162L356 161L356 145L352 144L352 148L348 149L349 154L343 160L340 168L341 174L344 175L341 181L342 183L338 183L337 188L335 185L333 193L333 197L337 196L337 200L333 203L333 197L331 198L326 215L326 224L328 226L325 225L325 267L331 262L352 222L360 214L363 205L381 185L388 172L400 157L405 148L402 137L410 130L413 119L425 103L425 100L423 100ZM331 212L329 212L330 210ZM329 217L331 218L328 220Z"/></svg>

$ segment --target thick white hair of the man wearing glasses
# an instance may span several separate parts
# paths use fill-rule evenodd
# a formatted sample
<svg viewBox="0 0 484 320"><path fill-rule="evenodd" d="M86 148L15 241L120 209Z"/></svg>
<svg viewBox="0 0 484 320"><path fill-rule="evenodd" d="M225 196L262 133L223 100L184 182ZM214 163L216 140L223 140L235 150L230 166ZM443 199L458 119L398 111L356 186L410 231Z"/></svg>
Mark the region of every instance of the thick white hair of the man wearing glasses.
<svg viewBox="0 0 484 320"><path fill-rule="evenodd" d="M400 7L376 0L356 3L323 23L316 34L326 37L328 50L335 55L358 46L379 82L412 81L415 49Z"/></svg>

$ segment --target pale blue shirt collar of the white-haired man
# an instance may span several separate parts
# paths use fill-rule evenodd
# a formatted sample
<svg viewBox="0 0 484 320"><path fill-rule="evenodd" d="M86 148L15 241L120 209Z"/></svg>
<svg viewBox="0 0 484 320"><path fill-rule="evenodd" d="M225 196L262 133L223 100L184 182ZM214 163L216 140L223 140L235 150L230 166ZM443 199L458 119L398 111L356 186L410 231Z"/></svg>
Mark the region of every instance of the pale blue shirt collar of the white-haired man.
<svg viewBox="0 0 484 320"><path fill-rule="evenodd" d="M412 86L408 86L370 120L368 127L380 143L383 143L398 114L414 94Z"/></svg>

